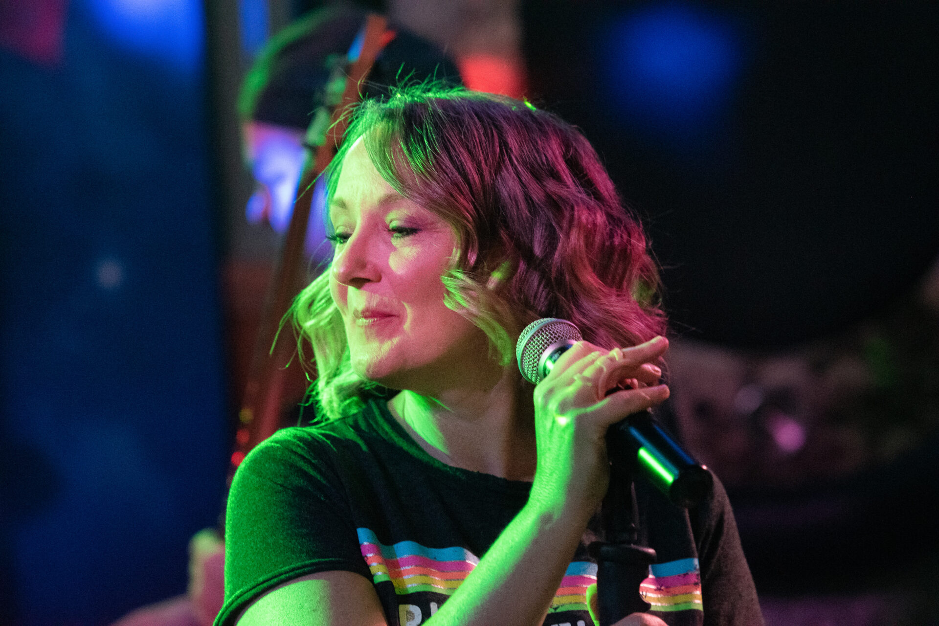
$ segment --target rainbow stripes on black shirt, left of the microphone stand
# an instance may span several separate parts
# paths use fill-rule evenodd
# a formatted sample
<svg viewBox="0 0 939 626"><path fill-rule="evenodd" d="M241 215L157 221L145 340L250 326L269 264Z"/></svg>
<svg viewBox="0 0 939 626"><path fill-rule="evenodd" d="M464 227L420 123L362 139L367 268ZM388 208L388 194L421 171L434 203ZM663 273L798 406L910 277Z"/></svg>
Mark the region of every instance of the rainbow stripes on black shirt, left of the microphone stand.
<svg viewBox="0 0 939 626"><path fill-rule="evenodd" d="M417 542L385 545L378 542L376 534L368 528L358 528L358 533L362 557L373 580L376 584L391 582L398 595L417 591L453 595L479 563L479 558L465 548L428 548ZM549 612L588 610L587 588L595 584L594 563L571 563Z"/></svg>

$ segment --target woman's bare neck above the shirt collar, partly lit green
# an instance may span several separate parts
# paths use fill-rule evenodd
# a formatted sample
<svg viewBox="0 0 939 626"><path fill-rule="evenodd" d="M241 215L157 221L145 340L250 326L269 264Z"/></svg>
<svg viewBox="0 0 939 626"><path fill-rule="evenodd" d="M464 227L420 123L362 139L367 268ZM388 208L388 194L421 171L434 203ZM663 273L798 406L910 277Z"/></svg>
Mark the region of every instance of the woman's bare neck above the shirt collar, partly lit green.
<svg viewBox="0 0 939 626"><path fill-rule="evenodd" d="M506 367L494 386L443 389L435 396L403 390L388 407L431 456L514 481L531 481L535 440L531 390ZM527 397L523 397L527 396Z"/></svg>

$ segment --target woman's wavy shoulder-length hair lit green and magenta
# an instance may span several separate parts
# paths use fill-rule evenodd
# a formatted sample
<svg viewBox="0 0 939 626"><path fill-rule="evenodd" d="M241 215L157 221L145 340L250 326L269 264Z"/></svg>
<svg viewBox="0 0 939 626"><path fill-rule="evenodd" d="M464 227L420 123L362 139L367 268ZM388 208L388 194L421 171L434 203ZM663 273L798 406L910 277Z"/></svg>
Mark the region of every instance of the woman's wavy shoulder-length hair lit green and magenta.
<svg viewBox="0 0 939 626"><path fill-rule="evenodd" d="M458 255L441 277L444 302L485 331L503 366L515 359L521 329L540 317L570 320L602 347L665 332L658 269L639 220L593 146L557 115L434 84L364 100L324 173L330 196L360 137L395 191L454 229ZM301 344L313 347L317 412L328 420L383 390L351 369L329 274L292 308Z"/></svg>

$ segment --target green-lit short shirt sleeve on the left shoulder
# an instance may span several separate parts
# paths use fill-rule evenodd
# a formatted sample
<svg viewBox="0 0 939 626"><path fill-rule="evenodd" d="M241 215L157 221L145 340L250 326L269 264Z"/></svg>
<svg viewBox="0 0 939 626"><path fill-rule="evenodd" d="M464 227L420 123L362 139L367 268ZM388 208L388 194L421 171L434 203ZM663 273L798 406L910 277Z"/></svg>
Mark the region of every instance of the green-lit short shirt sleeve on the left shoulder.
<svg viewBox="0 0 939 626"><path fill-rule="evenodd" d="M225 603L229 626L271 588L311 573L344 570L371 579L331 445L285 429L239 466L225 513Z"/></svg>

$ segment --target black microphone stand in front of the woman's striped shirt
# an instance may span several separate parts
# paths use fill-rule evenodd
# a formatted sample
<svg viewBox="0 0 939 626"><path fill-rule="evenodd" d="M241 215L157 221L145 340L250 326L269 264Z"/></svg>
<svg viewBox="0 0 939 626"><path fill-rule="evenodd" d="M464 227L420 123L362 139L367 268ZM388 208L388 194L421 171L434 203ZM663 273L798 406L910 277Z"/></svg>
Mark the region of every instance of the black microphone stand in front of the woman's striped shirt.
<svg viewBox="0 0 939 626"><path fill-rule="evenodd" d="M609 486L604 496L601 516L606 528L606 542L588 547L596 560L597 606L600 626L612 626L630 613L645 613L652 606L639 595L639 585L649 576L655 551L639 545L639 507L633 484L635 451L623 444L623 438L607 435L610 459Z"/></svg>

